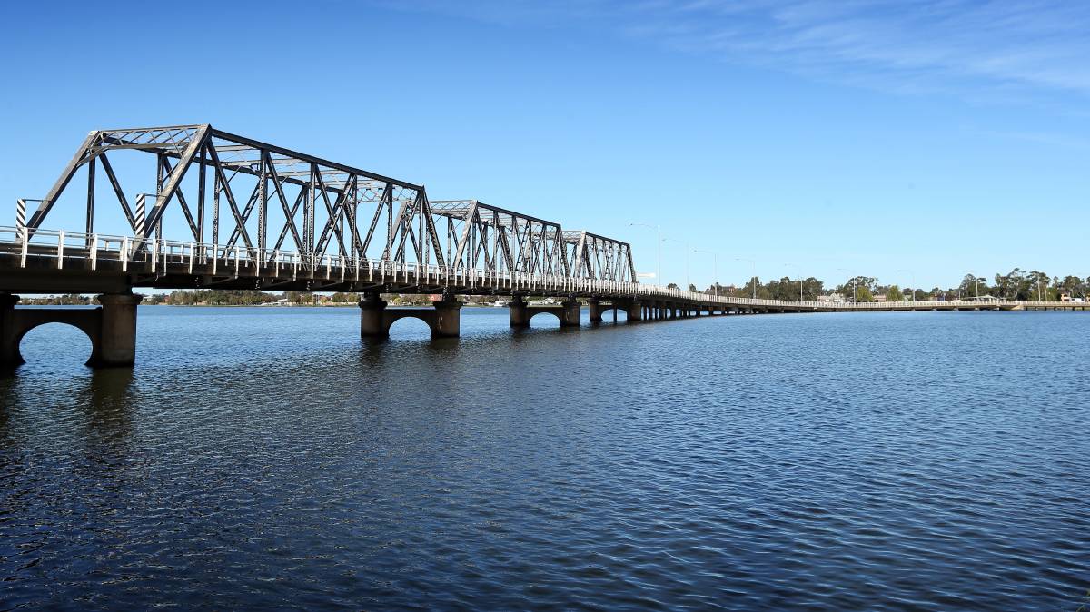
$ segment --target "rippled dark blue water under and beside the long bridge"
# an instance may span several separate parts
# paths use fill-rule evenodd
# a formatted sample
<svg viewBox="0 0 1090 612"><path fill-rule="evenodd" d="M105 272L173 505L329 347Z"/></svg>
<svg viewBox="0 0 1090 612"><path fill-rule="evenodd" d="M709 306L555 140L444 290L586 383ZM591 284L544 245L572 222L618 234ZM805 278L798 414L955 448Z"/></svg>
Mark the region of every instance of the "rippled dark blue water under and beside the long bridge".
<svg viewBox="0 0 1090 612"><path fill-rule="evenodd" d="M584 313L585 317L585 313ZM0 608L1069 610L1090 316L140 311L0 380Z"/></svg>

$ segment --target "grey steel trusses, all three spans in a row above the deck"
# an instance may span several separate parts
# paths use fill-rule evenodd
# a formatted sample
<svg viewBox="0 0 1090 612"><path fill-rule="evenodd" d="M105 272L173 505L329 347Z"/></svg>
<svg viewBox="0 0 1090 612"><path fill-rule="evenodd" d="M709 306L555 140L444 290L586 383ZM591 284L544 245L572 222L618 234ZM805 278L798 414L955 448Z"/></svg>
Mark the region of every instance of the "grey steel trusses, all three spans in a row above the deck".
<svg viewBox="0 0 1090 612"><path fill-rule="evenodd" d="M110 156L129 149L155 156L154 183L146 171L142 174L149 193L122 187ZM148 238L164 238L169 212L172 230L185 228L194 243L210 244L225 257L242 248L258 261L298 253L312 262L336 256L486 273L635 281L627 243L566 232L559 223L477 200L433 203L423 185L208 124L92 132L29 219L25 203L35 200L20 200L16 227L31 234L41 228L83 168L86 235L96 233L101 169L110 186L105 191L117 199L134 248Z"/></svg>

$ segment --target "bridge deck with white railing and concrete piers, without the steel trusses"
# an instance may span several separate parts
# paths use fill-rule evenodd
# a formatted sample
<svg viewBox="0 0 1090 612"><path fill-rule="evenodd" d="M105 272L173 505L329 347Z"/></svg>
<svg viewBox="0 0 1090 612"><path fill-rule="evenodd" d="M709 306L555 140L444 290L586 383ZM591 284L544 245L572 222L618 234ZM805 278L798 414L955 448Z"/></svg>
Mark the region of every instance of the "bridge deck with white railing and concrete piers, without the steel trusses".
<svg viewBox="0 0 1090 612"><path fill-rule="evenodd" d="M458 295L510 297L511 327L526 327L541 313L561 327L580 325L581 303L590 320L622 310L629 321L661 321L702 315L820 311L1086 309L1083 303L1055 301L954 301L831 303L753 299L650 285L549 274L500 273L448 266L416 265L342 256L307 258L298 253L131 236L101 236L0 228L0 365L22 363L19 343L38 325L65 322L92 339L88 365L124 366L135 359L136 305L133 289L246 289L361 293L361 335L385 336L398 319L424 320L435 338L459 334ZM100 307L16 308L19 293L97 293ZM441 296L428 308L387 308L380 294ZM535 306L534 297L559 298Z"/></svg>

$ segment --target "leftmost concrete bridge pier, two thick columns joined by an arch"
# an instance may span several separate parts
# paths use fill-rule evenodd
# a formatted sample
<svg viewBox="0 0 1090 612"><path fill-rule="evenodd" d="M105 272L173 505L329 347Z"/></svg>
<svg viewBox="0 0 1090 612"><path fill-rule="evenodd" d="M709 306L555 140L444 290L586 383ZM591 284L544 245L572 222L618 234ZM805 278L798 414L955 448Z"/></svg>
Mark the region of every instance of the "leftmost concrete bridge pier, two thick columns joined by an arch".
<svg viewBox="0 0 1090 612"><path fill-rule="evenodd" d="M136 305L132 293L102 294L98 308L15 308L19 296L0 294L0 368L23 364L19 345L32 329L46 323L78 328L90 339L87 365L132 366L136 362Z"/></svg>

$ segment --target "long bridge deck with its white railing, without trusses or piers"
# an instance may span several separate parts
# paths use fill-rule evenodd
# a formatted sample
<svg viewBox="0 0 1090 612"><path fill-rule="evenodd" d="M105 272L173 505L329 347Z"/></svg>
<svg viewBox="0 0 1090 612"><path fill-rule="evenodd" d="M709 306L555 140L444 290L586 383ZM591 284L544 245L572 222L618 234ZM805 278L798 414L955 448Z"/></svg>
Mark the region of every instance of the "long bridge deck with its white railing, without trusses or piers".
<svg viewBox="0 0 1090 612"><path fill-rule="evenodd" d="M7 240L5 240L7 238ZM540 295L756 311L1085 309L1057 301L829 303L716 296L634 282L457 269L415 262L225 249L172 241L0 228L0 291L110 293L132 287Z"/></svg>

